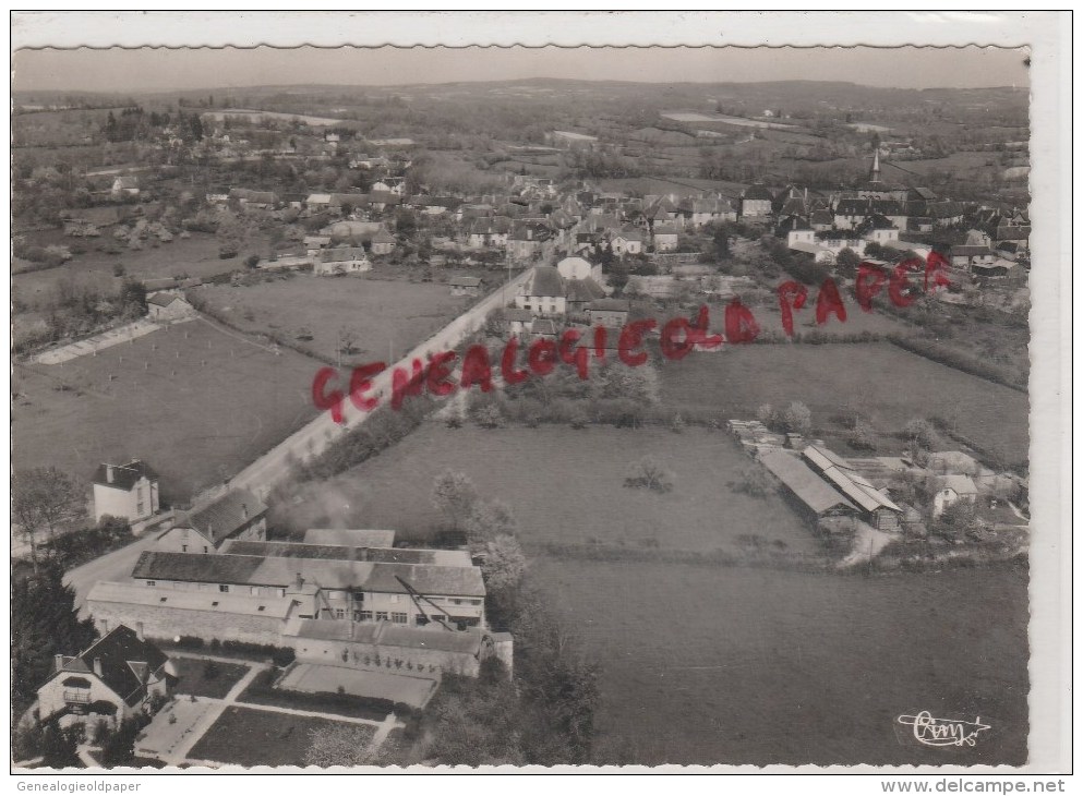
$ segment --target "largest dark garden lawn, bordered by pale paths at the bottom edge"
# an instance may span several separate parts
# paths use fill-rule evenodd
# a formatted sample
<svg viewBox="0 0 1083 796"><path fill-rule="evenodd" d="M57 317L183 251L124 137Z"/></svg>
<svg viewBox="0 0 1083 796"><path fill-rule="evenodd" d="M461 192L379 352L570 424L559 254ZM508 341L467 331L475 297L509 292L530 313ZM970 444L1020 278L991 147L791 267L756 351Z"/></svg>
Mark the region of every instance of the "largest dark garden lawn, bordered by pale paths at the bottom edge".
<svg viewBox="0 0 1083 796"><path fill-rule="evenodd" d="M231 707L192 747L189 757L238 765L304 765L310 734L328 726L369 729L375 735L371 727L329 719Z"/></svg>

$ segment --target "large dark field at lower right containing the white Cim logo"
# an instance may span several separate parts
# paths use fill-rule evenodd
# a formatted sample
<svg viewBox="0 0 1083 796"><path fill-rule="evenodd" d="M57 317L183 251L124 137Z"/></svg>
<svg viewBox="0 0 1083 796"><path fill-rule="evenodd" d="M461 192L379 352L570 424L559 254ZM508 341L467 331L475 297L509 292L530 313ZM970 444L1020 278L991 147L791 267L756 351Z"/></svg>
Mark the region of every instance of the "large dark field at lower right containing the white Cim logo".
<svg viewBox="0 0 1083 796"><path fill-rule="evenodd" d="M890 577L539 559L602 666L598 762L1021 764L1026 574ZM901 714L991 729L918 746Z"/></svg>

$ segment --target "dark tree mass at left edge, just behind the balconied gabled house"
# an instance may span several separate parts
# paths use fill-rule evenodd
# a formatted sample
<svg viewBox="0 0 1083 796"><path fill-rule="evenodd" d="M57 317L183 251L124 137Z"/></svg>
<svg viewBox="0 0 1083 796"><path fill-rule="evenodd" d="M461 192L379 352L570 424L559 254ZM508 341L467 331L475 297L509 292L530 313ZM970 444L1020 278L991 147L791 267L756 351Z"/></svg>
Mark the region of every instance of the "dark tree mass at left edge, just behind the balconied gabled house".
<svg viewBox="0 0 1083 796"><path fill-rule="evenodd" d="M79 618L75 592L63 570L48 563L11 587L11 701L21 713L34 701L53 667L53 655L74 655L96 637L94 623Z"/></svg>

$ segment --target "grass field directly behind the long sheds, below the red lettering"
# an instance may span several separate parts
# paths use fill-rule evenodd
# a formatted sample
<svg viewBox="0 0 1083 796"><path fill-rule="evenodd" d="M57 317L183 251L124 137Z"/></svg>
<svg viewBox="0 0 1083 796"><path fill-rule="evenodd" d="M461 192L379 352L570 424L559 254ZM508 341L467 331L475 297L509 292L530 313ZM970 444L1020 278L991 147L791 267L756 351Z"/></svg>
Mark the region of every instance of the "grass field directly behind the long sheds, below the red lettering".
<svg viewBox="0 0 1083 796"><path fill-rule="evenodd" d="M939 415L1009 463L1028 448L1025 394L917 357L890 343L732 347L667 363L662 402L750 418L760 403L802 401L813 425L858 412L880 432Z"/></svg>

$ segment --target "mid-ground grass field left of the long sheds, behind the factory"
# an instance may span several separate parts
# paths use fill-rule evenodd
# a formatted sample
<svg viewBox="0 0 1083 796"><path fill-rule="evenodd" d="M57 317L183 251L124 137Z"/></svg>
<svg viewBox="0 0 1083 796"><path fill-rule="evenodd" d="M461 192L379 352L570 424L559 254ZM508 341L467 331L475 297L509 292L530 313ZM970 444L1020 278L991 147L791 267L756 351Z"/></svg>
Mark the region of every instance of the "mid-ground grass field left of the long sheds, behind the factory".
<svg viewBox="0 0 1083 796"><path fill-rule="evenodd" d="M624 486L629 463L647 454L674 472L672 492ZM727 485L751 466L724 432L426 423L339 478L304 486L288 517L299 529L341 523L424 536L442 520L430 500L433 477L450 468L466 472L482 497L510 504L528 545L598 540L712 551L758 534L789 551L815 552L811 533L781 498Z"/></svg>

